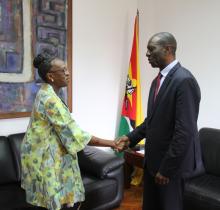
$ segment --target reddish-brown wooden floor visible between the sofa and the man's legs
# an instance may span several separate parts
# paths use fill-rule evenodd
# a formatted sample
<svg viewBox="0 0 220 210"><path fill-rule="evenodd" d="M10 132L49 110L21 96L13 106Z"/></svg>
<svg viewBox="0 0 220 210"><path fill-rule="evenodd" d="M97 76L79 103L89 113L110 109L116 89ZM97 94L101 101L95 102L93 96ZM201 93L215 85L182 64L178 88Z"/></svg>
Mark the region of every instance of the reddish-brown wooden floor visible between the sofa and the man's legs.
<svg viewBox="0 0 220 210"><path fill-rule="evenodd" d="M131 186L129 189L125 189L120 207L113 210L141 210L142 194L142 186Z"/></svg>

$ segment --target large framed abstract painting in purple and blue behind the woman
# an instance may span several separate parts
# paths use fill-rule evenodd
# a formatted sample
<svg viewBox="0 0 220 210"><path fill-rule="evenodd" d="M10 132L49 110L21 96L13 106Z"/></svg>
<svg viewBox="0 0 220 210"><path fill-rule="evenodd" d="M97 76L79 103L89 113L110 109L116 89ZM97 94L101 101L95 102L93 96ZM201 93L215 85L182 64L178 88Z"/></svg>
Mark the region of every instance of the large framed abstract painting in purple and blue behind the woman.
<svg viewBox="0 0 220 210"><path fill-rule="evenodd" d="M32 62L46 49L72 78L72 0L0 0L0 119L30 116L42 84ZM72 79L60 97L72 111Z"/></svg>

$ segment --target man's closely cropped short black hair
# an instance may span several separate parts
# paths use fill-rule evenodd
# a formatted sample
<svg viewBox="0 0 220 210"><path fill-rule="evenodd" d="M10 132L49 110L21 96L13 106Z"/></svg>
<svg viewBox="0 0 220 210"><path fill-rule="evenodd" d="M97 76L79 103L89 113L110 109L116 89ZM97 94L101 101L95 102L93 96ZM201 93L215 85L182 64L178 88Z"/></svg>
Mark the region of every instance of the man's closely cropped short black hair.
<svg viewBox="0 0 220 210"><path fill-rule="evenodd" d="M172 54L173 55L176 54L177 42L176 42L175 37L171 33L169 33L169 32L159 32L159 33L154 34L151 39L153 39L154 37L159 38L158 43L161 46L171 47Z"/></svg>

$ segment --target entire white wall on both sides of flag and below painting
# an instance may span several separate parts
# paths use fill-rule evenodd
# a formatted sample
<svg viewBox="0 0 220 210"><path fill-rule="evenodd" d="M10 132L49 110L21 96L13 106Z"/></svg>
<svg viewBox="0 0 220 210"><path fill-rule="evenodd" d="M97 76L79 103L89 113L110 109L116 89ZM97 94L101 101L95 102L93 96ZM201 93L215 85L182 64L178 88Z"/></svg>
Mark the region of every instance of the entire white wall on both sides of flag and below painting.
<svg viewBox="0 0 220 210"><path fill-rule="evenodd" d="M169 31L178 41L178 60L201 87L199 127L220 128L220 100L215 100L220 90L218 0L74 0L73 117L94 135L115 137L137 7L144 113L157 74L145 57L147 40ZM28 118L0 120L0 135L24 132L27 124Z"/></svg>

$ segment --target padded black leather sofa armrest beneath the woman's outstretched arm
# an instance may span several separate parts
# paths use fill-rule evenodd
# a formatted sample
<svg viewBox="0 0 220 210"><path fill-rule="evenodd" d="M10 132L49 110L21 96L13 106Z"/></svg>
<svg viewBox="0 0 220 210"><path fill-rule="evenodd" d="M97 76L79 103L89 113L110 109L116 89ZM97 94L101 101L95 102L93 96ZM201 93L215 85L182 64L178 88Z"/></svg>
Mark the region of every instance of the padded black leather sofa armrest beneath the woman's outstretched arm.
<svg viewBox="0 0 220 210"><path fill-rule="evenodd" d="M108 177L110 172L118 169L124 163L123 158L94 146L86 146L84 150L78 153L78 159L83 173L102 179Z"/></svg>

